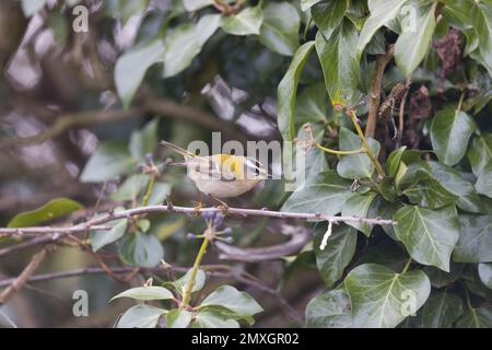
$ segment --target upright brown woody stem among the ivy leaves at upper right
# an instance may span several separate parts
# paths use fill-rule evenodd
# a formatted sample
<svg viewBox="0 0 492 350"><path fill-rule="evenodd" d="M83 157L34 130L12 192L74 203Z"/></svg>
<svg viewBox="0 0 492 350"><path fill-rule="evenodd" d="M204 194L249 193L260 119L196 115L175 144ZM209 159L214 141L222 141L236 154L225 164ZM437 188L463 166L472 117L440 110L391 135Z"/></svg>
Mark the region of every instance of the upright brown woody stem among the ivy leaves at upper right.
<svg viewBox="0 0 492 350"><path fill-rule="evenodd" d="M376 67L374 68L373 78L371 80L371 95L370 95L370 108L367 114L367 124L365 126L365 136L367 138L374 138L377 124L377 113L379 110L380 103L380 86L383 83L383 75L385 73L386 65L388 65L395 52L394 45L389 45L384 55L378 55L376 58Z"/></svg>

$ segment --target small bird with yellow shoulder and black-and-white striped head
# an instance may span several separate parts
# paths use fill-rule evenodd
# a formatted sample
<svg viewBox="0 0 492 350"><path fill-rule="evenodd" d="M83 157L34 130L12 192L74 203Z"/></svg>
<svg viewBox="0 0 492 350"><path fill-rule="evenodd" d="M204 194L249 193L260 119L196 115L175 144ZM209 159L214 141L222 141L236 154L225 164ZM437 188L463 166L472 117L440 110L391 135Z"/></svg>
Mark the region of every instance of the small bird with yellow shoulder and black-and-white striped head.
<svg viewBox="0 0 492 350"><path fill-rule="evenodd" d="M198 190L224 207L226 203L220 199L241 196L269 176L261 163L251 158L232 154L200 156L167 141L161 141L161 144L183 155L183 162L171 164L186 166L188 177Z"/></svg>

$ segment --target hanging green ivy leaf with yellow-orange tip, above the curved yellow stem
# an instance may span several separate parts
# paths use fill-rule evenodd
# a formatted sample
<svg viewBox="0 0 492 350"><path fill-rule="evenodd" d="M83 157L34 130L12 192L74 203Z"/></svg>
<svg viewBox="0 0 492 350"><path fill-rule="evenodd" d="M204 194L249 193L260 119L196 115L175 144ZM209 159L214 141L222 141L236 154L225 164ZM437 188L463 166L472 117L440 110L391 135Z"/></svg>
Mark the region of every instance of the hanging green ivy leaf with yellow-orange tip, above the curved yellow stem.
<svg viewBox="0 0 492 350"><path fill-rule="evenodd" d="M321 32L316 34L316 51L332 105L344 107L360 96L356 42L358 31L347 19L328 39Z"/></svg>

